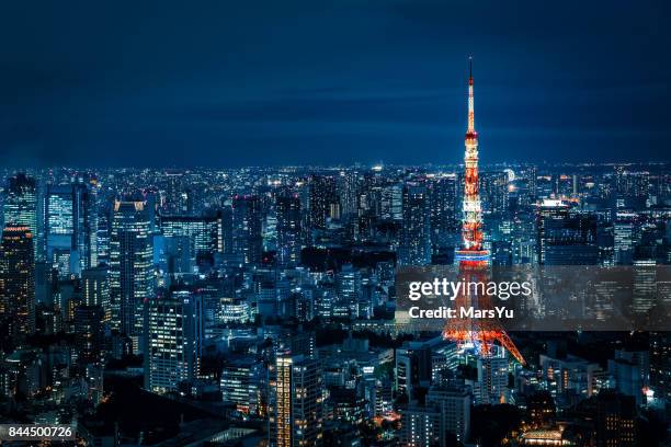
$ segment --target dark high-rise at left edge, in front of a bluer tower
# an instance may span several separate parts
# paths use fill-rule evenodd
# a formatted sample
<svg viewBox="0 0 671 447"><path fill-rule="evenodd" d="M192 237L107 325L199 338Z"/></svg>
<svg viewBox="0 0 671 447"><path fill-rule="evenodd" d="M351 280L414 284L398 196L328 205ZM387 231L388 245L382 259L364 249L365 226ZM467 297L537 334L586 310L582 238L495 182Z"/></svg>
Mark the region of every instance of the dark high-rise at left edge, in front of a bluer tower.
<svg viewBox="0 0 671 447"><path fill-rule="evenodd" d="M35 253L26 226L4 227L0 252L0 312L11 336L35 332Z"/></svg>

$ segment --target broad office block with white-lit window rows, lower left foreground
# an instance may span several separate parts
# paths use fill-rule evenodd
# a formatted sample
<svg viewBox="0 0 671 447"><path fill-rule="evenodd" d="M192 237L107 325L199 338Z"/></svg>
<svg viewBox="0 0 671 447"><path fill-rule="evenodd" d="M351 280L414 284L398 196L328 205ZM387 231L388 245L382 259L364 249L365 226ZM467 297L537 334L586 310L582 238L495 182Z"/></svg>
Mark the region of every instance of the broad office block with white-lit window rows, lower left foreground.
<svg viewBox="0 0 671 447"><path fill-rule="evenodd" d="M198 316L189 295L150 298L145 305L145 388L175 391L198 370Z"/></svg>

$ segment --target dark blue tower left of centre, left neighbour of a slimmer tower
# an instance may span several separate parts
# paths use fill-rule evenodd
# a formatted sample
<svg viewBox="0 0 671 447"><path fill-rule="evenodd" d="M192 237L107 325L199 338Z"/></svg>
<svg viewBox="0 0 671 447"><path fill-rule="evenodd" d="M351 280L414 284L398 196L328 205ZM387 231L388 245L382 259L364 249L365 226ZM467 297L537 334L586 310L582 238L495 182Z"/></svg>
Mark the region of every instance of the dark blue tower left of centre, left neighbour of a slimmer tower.
<svg viewBox="0 0 671 447"><path fill-rule="evenodd" d="M232 252L247 264L260 264L263 255L261 202L258 196L236 195L232 198Z"/></svg>

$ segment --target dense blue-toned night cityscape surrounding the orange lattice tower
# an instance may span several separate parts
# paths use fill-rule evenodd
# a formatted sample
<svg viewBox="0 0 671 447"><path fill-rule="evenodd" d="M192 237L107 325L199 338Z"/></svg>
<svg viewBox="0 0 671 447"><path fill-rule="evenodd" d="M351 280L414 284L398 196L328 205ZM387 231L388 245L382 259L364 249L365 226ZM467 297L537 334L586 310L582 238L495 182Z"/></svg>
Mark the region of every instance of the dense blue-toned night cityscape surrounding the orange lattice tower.
<svg viewBox="0 0 671 447"><path fill-rule="evenodd" d="M135 389L143 411L161 405L148 403L152 397L178 420L183 413L184 433L190 423L217 427L208 439L663 439L664 332L511 332L522 365L497 342L485 356L440 331L395 325L395 266L458 262L460 169L202 169L177 179L160 170L5 172L4 420L77 422L88 439L138 442L141 429L126 415L115 416L116 427L105 416L115 402L132 404L123 390ZM505 174L504 187L487 193L502 205L482 206L481 247L492 265L632 268L634 312L671 294L668 165L480 170L481 182ZM192 205L170 204L198 182L212 187L192 194ZM96 216L79 219L80 230L73 196L96 197L77 199ZM44 213L33 214L36 203ZM76 232L89 242L77 243ZM37 255L35 241L44 243ZM618 287L594 285L595 316ZM170 410L175 402L191 410Z"/></svg>

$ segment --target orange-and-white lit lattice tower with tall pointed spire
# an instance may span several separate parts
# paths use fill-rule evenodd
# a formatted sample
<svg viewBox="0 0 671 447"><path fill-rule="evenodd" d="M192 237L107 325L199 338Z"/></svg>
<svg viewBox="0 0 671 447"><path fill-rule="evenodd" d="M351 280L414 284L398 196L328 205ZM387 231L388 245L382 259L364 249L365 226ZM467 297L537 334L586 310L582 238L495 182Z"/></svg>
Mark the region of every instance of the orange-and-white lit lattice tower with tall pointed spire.
<svg viewBox="0 0 671 447"><path fill-rule="evenodd" d="M468 129L464 156L464 215L462 247L455 257L459 265L459 278L464 284L487 283L489 252L482 248L482 208L478 184L478 133L475 129L473 96L473 60L468 74ZM473 291L473 293L471 293ZM456 308L489 309L490 297L467 290L455 299ZM454 319L443 331L443 336L459 344L473 344L481 357L491 357L494 342L508 349L520 363L522 355L503 328L494 320Z"/></svg>

